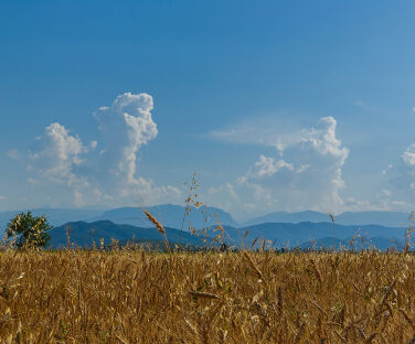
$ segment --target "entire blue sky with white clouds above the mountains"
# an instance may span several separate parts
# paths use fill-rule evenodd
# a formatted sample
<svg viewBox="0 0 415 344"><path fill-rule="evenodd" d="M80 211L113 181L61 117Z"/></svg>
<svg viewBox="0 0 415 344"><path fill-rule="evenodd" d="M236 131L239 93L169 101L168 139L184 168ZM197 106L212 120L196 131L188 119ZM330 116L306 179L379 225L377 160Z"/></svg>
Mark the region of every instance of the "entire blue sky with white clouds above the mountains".
<svg viewBox="0 0 415 344"><path fill-rule="evenodd" d="M0 1L0 209L412 211L414 10Z"/></svg>

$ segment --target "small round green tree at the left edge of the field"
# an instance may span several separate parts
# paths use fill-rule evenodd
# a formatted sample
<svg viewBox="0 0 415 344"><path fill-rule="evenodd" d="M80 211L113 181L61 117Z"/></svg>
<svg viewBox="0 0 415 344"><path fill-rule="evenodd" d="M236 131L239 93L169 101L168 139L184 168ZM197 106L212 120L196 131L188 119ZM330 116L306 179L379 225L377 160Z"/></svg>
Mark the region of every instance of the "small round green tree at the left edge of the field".
<svg viewBox="0 0 415 344"><path fill-rule="evenodd" d="M15 247L46 248L53 227L47 223L45 215L33 216L32 212L15 215L6 229L6 240L12 241Z"/></svg>

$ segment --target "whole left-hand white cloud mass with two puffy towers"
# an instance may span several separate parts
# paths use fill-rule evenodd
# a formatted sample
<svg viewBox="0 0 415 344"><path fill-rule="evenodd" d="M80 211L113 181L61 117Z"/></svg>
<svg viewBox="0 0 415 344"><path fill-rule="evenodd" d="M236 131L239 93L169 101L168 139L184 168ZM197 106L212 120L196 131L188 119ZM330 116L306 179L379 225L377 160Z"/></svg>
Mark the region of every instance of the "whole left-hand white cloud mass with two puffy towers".
<svg viewBox="0 0 415 344"><path fill-rule="evenodd" d="M75 205L119 206L137 203L138 196L148 203L174 202L180 195L177 187L155 186L137 171L140 148L158 133L152 108L148 94L118 96L111 106L94 112L100 137L88 147L64 126L53 123L31 152L30 168L40 180L71 187Z"/></svg>

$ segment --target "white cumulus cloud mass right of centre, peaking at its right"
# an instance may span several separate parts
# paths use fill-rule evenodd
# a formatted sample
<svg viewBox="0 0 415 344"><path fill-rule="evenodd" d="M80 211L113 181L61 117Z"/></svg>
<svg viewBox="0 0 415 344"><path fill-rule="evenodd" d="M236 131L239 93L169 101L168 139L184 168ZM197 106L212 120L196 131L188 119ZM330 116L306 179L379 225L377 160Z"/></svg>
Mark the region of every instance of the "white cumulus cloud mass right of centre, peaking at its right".
<svg viewBox="0 0 415 344"><path fill-rule="evenodd" d="M349 149L337 137L336 127L333 117L323 117L315 128L302 130L296 142L286 143L285 160L259 155L253 166L257 174L247 174L247 185L257 186L254 196L260 195L268 204L273 200L274 208L340 209L341 170Z"/></svg>

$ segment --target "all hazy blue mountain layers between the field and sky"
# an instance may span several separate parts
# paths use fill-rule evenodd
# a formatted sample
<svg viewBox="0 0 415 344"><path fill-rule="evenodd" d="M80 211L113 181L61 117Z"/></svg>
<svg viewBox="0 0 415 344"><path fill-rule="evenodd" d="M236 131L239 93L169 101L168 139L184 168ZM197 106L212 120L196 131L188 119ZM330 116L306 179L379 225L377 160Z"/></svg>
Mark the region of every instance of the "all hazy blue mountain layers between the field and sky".
<svg viewBox="0 0 415 344"><path fill-rule="evenodd" d="M178 233L183 224L183 244L195 245L200 239L189 236L189 226L201 229L203 227L215 226L216 216L225 226L228 234L228 243L241 245L242 238L247 232L245 241L247 245L255 238L276 240L277 247L307 246L317 240L317 243L327 244L330 238L336 237L342 243L349 243L350 238L359 233L361 236L371 238L380 247L389 247L391 240L403 245L405 227L408 226L407 213L398 212L361 212L343 213L334 216L334 223L328 214L318 212L298 212L286 213L276 212L260 217L253 218L243 225L236 223L232 216L215 207L208 208L208 212L192 208L189 216L185 216L183 223L184 206L179 205L158 205L147 208L156 216L164 227L169 228L169 240L175 243ZM7 223L20 212L0 213L0 226L4 230ZM146 218L140 207L121 207L109 211L97 209L55 209L40 208L32 212L34 215L45 214L49 223L54 226L52 230L52 245L66 245L64 228L72 227L73 239L78 240L78 245L91 243L91 229L94 228L96 238L104 238L106 241L111 237L123 240L129 240L134 236L137 240L160 240L159 233L153 225ZM189 236L189 237L188 237ZM210 232L210 236L214 236ZM199 241L198 241L199 240ZM391 245L389 245L391 244Z"/></svg>

